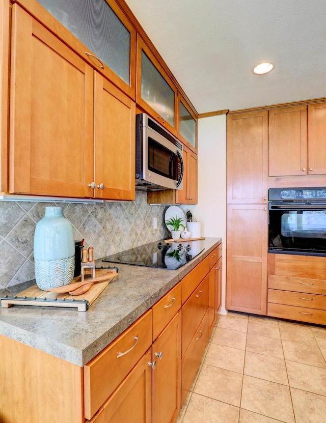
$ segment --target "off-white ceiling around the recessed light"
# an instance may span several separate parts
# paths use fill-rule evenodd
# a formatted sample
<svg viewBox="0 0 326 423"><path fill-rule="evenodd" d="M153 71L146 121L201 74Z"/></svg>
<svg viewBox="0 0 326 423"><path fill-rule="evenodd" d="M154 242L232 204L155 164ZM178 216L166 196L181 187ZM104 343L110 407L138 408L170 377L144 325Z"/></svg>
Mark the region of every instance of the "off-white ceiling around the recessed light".
<svg viewBox="0 0 326 423"><path fill-rule="evenodd" d="M325 0L126 3L199 114L326 97Z"/></svg>

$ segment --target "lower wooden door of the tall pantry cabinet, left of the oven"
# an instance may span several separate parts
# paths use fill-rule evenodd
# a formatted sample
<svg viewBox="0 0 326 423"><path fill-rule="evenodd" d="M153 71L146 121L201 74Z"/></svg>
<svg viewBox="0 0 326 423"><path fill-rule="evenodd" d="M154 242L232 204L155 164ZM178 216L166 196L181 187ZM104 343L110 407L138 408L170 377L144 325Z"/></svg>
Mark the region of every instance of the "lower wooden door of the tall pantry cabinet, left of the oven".
<svg viewBox="0 0 326 423"><path fill-rule="evenodd" d="M267 207L229 204L227 210L226 307L266 314Z"/></svg>

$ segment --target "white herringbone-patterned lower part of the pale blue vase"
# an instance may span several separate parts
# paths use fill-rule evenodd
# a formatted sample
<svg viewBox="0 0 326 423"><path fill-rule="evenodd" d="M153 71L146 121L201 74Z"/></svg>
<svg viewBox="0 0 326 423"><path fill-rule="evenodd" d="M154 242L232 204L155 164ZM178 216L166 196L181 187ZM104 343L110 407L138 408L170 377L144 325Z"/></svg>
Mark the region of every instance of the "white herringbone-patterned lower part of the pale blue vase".
<svg viewBox="0 0 326 423"><path fill-rule="evenodd" d="M74 256L59 260L35 259L35 279L37 286L46 291L69 285L75 270Z"/></svg>

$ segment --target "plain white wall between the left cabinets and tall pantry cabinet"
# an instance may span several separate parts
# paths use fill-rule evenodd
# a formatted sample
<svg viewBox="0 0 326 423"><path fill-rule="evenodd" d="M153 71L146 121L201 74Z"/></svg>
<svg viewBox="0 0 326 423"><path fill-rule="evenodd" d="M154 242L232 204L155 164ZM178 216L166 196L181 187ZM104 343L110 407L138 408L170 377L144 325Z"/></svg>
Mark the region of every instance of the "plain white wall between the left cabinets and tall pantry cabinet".
<svg viewBox="0 0 326 423"><path fill-rule="evenodd" d="M226 273L226 115L198 121L198 204L181 206L202 222L204 237L223 240L222 306L225 314Z"/></svg>

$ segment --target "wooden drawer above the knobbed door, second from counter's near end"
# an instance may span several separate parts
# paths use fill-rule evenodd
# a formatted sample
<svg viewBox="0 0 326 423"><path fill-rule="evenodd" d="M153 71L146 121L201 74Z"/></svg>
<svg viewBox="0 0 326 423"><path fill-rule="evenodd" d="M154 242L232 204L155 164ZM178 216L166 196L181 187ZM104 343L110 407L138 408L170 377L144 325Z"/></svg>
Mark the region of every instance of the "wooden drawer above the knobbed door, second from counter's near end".
<svg viewBox="0 0 326 423"><path fill-rule="evenodd" d="M153 341L181 307L181 282L153 305Z"/></svg>

